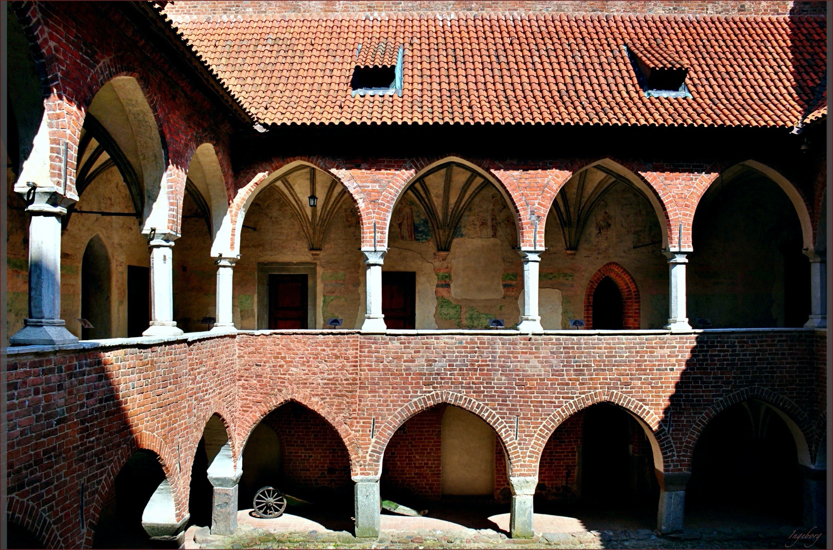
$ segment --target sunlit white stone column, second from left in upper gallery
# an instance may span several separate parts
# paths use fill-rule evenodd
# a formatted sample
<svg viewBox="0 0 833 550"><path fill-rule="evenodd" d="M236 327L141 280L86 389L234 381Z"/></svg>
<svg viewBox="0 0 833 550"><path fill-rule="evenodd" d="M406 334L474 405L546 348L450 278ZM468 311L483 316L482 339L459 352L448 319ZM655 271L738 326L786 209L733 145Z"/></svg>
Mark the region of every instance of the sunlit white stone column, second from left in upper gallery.
<svg viewBox="0 0 833 550"><path fill-rule="evenodd" d="M151 249L151 326L142 336L179 336L173 320L173 243L157 235Z"/></svg>

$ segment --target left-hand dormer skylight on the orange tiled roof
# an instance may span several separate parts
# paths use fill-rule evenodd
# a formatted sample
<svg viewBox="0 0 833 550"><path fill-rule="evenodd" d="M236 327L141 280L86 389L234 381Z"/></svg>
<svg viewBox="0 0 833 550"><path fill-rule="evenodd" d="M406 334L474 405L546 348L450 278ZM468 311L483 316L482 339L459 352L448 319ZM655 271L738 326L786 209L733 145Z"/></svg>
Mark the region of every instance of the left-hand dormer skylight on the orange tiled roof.
<svg viewBox="0 0 833 550"><path fill-rule="evenodd" d="M374 42L356 48L356 68L350 82L352 96L402 97L402 57L405 48L393 42Z"/></svg>

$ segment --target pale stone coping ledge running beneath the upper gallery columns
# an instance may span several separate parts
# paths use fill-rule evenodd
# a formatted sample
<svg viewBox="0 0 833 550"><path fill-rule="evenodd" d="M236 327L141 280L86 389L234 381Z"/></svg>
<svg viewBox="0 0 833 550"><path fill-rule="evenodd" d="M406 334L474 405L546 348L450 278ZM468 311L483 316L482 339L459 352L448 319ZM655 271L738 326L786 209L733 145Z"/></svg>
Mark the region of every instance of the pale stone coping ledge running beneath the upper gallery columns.
<svg viewBox="0 0 833 550"><path fill-rule="evenodd" d="M274 335L332 335L367 334L368 336L502 336L502 337L533 337L533 336L562 336L581 338L586 336L686 336L691 334L741 334L741 333L827 333L826 328L703 328L686 332L671 332L664 328L641 330L545 330L542 333L521 333L518 330L465 330L454 329L389 329L384 333L364 333L357 328L305 328L295 330L227 330L203 331L200 333L184 333L179 336L142 336L138 338L108 338L105 340L82 340L72 344L59 346L10 346L0 349L0 353L15 357L29 353L50 353L58 351L86 352L92 349L105 348L136 348L139 346L155 346L160 344L189 343L245 334L247 336Z"/></svg>

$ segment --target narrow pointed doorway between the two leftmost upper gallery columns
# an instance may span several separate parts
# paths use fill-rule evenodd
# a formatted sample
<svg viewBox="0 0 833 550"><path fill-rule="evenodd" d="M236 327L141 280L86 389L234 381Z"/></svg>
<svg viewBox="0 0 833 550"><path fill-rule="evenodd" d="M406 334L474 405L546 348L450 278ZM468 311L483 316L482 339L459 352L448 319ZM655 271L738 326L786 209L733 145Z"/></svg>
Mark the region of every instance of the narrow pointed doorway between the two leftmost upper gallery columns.
<svg viewBox="0 0 833 550"><path fill-rule="evenodd" d="M82 340L111 338L110 255L94 235L81 260L81 318L92 328L81 329Z"/></svg>

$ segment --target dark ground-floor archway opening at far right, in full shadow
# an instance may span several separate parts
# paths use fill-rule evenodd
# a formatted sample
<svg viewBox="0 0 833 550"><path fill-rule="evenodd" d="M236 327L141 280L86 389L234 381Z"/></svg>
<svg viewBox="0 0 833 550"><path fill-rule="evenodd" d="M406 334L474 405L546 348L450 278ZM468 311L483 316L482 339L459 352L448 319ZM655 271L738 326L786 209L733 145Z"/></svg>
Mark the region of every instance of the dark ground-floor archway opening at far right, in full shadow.
<svg viewBox="0 0 833 550"><path fill-rule="evenodd" d="M686 517L801 522L801 472L790 428L756 399L727 408L694 449Z"/></svg>

